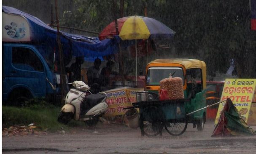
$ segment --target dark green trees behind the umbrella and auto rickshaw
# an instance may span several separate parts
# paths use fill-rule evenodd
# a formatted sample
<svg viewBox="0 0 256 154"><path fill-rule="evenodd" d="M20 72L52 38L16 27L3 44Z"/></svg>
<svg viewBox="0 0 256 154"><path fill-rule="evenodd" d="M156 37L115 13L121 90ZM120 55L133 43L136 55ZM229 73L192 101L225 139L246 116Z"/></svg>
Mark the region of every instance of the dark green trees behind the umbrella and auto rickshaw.
<svg viewBox="0 0 256 154"><path fill-rule="evenodd" d="M64 21L100 32L114 20L112 0L75 2L78 6L73 12L75 18L64 16ZM116 3L115 9L119 12L119 1L116 0ZM204 60L207 74L213 77L217 72L226 73L233 59L234 74L246 78L256 77L256 71L252 71L256 65L256 43L253 41L256 35L250 30L248 1L124 0L124 16L144 16L145 6L148 17L162 21L176 32L172 44L174 48L167 51L167 55L169 52L175 58ZM120 18L119 13L117 17ZM160 52L159 49L157 52ZM162 54L164 57L166 51Z"/></svg>

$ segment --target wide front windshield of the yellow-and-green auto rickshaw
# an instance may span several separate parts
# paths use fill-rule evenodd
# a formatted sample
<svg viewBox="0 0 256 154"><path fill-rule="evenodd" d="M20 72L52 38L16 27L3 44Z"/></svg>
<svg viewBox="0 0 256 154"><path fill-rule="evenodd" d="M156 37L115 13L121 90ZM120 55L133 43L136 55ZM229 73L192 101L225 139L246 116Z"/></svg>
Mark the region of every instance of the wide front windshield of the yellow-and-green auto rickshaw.
<svg viewBox="0 0 256 154"><path fill-rule="evenodd" d="M159 85L159 81L170 77L181 77L184 85L184 74L180 67L151 67L148 69L146 85Z"/></svg>

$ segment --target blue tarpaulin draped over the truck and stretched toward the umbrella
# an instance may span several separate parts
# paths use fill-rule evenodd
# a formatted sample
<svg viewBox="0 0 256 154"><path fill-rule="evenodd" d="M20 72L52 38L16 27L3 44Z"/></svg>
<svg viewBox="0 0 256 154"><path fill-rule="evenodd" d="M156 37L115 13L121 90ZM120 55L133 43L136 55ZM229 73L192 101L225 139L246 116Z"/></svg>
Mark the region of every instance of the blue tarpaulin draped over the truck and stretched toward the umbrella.
<svg viewBox="0 0 256 154"><path fill-rule="evenodd" d="M58 50L57 44L57 29L49 27L40 19L19 11L16 8L2 6L2 12L17 14L27 19L30 26L31 43L37 45L47 45L46 48ZM85 37L82 35L74 35L61 32L61 43L64 56L85 56L97 57L106 56L118 52L118 43L120 38L118 36L113 39L105 39L100 41L98 37ZM49 52L41 50L40 52ZM48 53L42 53L49 55ZM58 54L56 54L57 56Z"/></svg>

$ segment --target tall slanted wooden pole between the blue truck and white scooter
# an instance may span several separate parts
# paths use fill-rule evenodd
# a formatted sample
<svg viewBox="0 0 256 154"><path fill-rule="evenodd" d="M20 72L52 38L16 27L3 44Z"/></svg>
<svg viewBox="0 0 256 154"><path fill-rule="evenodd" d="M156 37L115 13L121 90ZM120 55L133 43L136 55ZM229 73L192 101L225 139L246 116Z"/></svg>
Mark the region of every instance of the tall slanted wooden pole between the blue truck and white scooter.
<svg viewBox="0 0 256 154"><path fill-rule="evenodd" d="M62 45L60 42L61 32L59 32L59 19L58 19L58 7L57 7L57 0L55 1L55 13L56 13L56 24L57 24L57 43L59 46L59 63L60 63L60 85L61 85L61 104L64 104L64 95L65 95L65 68L64 68L64 61L62 55Z"/></svg>

